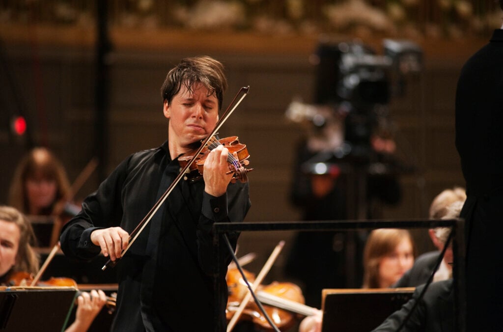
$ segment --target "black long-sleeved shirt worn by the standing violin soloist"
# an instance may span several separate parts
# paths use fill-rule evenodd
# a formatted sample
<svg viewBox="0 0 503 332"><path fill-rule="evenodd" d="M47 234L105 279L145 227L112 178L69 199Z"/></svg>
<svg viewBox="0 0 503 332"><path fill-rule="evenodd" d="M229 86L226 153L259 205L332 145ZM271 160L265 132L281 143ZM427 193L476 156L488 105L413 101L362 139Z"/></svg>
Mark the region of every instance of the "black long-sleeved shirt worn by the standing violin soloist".
<svg viewBox="0 0 503 332"><path fill-rule="evenodd" d="M80 260L98 255L100 247L90 238L97 227L121 226L130 233L154 205L158 193L165 191L159 188L163 171L167 184L180 172L167 142L126 158L63 228L65 255ZM249 207L247 183L229 184L225 195L213 197L204 193L202 179L194 183L182 180L117 264L119 291L112 329L213 331L212 225L240 222ZM237 234L231 241L236 244ZM230 254L225 247L221 253L220 318L225 319L225 272Z"/></svg>

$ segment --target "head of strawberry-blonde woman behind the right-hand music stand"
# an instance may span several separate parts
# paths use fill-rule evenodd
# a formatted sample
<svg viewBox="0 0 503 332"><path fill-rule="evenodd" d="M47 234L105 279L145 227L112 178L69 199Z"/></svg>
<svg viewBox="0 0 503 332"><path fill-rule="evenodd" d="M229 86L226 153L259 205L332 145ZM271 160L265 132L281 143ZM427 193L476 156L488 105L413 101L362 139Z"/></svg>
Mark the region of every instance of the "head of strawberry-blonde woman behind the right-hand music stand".
<svg viewBox="0 0 503 332"><path fill-rule="evenodd" d="M363 253L363 288L387 288L412 267L415 246L408 230L373 230Z"/></svg>

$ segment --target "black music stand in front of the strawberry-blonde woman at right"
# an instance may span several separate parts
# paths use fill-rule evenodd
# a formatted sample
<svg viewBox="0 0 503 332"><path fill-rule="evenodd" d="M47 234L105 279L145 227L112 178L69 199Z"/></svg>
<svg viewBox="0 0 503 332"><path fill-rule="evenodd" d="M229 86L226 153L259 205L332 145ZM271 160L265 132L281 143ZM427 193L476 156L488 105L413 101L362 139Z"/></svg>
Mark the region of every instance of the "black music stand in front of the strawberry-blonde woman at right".
<svg viewBox="0 0 503 332"><path fill-rule="evenodd" d="M321 332L368 332L412 298L414 288L323 289Z"/></svg>

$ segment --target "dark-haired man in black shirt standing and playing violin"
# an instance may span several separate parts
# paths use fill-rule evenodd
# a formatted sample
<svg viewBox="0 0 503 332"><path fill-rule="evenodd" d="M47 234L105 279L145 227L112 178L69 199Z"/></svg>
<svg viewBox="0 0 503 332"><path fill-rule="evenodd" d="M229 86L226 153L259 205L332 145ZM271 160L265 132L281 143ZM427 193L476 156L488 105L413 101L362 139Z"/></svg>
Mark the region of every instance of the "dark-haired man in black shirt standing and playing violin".
<svg viewBox="0 0 503 332"><path fill-rule="evenodd" d="M161 88L163 114L169 119L167 141L127 157L62 230L67 256L88 260L101 252L113 262L120 259L114 331L225 326L230 254L221 251L218 263L222 307L217 322L212 225L240 222L250 207L248 184L229 184L225 147L208 154L201 179L180 181L128 244L131 232L179 175L178 157L193 151L215 128L226 87L222 64L207 56L183 59L170 70ZM230 235L235 246L237 234Z"/></svg>

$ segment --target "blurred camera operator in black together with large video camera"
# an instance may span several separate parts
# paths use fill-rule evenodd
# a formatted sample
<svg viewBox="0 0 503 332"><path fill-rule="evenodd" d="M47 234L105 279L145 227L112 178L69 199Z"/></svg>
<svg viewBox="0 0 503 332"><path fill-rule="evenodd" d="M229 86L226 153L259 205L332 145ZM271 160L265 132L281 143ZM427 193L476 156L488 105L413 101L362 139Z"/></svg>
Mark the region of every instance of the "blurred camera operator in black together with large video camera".
<svg viewBox="0 0 503 332"><path fill-rule="evenodd" d="M343 63L343 58L338 61ZM332 96L325 100L318 96L322 106L304 105L302 110L294 102L287 111L294 121L301 114L310 122L296 147L290 193L305 221L376 218L374 204L393 205L401 198L396 145L385 106L386 76L377 65L337 70ZM362 285L365 240L365 232L354 231L296 234L285 273L300 281L307 305L321 305L323 288Z"/></svg>

